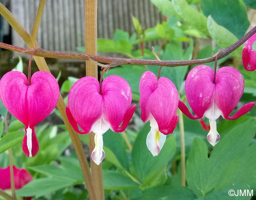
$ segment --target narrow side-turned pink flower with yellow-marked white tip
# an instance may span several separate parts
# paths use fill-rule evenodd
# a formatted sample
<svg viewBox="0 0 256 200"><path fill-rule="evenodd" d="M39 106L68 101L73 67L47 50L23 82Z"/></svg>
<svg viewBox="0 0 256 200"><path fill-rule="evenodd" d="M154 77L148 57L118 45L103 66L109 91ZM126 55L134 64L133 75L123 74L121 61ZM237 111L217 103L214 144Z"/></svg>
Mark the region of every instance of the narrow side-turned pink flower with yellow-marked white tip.
<svg viewBox="0 0 256 200"><path fill-rule="evenodd" d="M144 72L140 79L140 107L143 122L150 121L146 144L153 156L159 154L166 135L173 132L178 122L178 91L165 77L157 80L154 73Z"/></svg>

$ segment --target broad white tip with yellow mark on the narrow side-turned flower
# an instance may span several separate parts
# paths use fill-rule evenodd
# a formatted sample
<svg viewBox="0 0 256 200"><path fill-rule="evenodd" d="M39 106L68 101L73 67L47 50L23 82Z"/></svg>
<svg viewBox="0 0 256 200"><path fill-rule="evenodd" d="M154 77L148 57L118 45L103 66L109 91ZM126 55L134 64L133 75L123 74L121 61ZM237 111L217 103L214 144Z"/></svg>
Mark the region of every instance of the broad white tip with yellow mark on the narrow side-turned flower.
<svg viewBox="0 0 256 200"><path fill-rule="evenodd" d="M165 143L166 135L158 129L151 128L147 135L147 148L153 156L157 156Z"/></svg>

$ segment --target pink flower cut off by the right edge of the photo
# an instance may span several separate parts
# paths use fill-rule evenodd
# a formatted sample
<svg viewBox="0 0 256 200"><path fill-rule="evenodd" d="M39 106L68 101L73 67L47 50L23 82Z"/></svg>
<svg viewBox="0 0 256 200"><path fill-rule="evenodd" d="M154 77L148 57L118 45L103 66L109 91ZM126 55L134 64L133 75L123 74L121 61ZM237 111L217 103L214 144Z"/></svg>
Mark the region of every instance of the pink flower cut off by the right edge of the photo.
<svg viewBox="0 0 256 200"><path fill-rule="evenodd" d="M242 61L247 71L256 70L256 34L252 35L245 43L242 51Z"/></svg>

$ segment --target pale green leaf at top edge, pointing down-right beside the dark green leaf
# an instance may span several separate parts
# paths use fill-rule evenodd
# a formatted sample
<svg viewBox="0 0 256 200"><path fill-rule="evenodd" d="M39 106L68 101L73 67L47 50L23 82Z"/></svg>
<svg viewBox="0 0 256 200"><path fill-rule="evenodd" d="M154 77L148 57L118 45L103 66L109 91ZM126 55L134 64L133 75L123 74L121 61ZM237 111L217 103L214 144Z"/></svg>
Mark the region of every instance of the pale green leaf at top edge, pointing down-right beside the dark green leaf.
<svg viewBox="0 0 256 200"><path fill-rule="evenodd" d="M173 0L174 9L181 16L184 22L206 35L210 35L207 30L207 17L188 5L186 0Z"/></svg>

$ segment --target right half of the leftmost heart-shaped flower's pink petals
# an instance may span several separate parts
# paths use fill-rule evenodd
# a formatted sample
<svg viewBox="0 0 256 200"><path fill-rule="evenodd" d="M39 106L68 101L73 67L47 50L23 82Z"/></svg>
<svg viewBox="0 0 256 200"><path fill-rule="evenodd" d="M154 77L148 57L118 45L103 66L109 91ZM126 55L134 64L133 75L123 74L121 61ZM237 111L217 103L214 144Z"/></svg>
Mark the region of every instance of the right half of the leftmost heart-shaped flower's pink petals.
<svg viewBox="0 0 256 200"><path fill-rule="evenodd" d="M44 71L33 74L27 90L30 126L41 122L52 112L59 95L59 85L53 75Z"/></svg>

